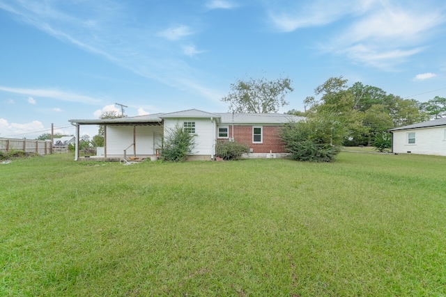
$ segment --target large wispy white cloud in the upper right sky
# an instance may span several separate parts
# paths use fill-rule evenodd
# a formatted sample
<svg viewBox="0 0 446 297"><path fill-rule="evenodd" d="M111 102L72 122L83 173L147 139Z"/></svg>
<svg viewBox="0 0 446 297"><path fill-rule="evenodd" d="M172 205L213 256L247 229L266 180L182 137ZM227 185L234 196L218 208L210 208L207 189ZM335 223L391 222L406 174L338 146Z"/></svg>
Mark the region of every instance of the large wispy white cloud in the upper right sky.
<svg viewBox="0 0 446 297"><path fill-rule="evenodd" d="M332 37L321 41L322 51L387 69L424 51L445 22L442 9L428 10L416 1L399 6L389 0L316 0L269 11L272 24L285 32L336 22Z"/></svg>

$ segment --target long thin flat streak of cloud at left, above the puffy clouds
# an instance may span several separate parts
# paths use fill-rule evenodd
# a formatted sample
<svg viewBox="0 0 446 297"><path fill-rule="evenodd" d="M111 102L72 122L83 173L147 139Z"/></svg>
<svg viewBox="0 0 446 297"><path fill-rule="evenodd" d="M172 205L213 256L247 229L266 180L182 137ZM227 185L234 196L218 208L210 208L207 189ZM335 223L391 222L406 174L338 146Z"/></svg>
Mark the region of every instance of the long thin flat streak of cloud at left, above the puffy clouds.
<svg viewBox="0 0 446 297"><path fill-rule="evenodd" d="M5 86L0 86L0 91L29 95L33 97L43 97L52 98L69 102L79 102L85 104L100 104L101 99L96 99L86 95L78 95L75 93L70 93L61 90L44 90L44 89L28 89L28 88L8 88ZM30 104L36 104L36 100L33 97L29 97L28 102Z"/></svg>

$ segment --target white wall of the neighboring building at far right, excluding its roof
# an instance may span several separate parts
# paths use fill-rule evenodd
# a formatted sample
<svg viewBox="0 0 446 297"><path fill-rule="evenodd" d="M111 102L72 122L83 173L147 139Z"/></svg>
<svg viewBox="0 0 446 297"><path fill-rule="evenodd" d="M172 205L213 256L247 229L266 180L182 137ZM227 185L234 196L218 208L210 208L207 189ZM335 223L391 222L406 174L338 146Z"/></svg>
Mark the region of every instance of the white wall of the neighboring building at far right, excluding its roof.
<svg viewBox="0 0 446 297"><path fill-rule="evenodd" d="M393 152L446 156L446 127L393 131ZM408 143L408 133L415 133L415 144Z"/></svg>

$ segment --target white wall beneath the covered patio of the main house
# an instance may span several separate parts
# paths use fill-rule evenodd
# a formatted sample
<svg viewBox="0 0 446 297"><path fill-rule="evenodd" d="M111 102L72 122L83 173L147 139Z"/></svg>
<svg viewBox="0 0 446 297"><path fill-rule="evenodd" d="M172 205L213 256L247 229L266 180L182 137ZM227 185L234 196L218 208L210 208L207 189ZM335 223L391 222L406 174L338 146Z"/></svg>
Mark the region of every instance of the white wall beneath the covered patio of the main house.
<svg viewBox="0 0 446 297"><path fill-rule="evenodd" d="M154 134L161 134L161 126L136 126L137 156L155 154ZM133 126L107 126L107 156L123 156L124 150L133 143ZM127 155L133 155L133 146Z"/></svg>

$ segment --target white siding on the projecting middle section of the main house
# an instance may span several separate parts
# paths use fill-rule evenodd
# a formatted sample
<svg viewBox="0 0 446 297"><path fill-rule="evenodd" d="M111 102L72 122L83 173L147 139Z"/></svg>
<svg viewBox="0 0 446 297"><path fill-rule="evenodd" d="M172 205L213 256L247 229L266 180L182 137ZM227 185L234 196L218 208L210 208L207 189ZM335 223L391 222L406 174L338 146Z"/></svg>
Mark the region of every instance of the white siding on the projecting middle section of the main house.
<svg viewBox="0 0 446 297"><path fill-rule="evenodd" d="M215 131L213 121L208 119L164 119L164 136L176 125L183 127L184 122L195 122L194 147L192 155L213 155Z"/></svg>

